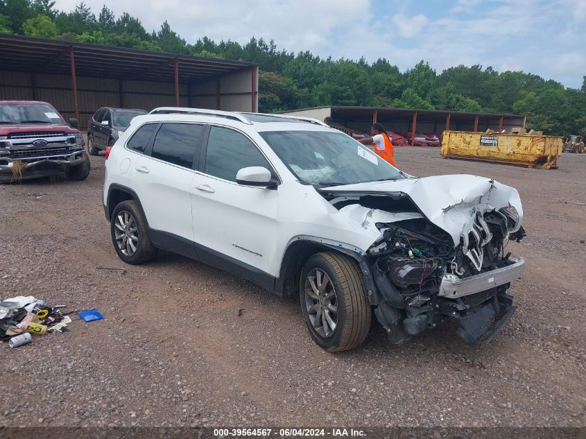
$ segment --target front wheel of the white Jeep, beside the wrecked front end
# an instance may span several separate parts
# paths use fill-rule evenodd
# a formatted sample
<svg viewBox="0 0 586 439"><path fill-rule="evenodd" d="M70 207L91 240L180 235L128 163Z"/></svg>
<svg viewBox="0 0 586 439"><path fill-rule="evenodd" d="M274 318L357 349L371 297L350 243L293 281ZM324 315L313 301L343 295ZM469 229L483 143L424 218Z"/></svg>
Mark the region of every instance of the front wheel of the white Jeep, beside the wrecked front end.
<svg viewBox="0 0 586 439"><path fill-rule="evenodd" d="M354 259L335 252L311 256L302 270L300 302L311 337L324 350L351 350L368 336L371 310Z"/></svg>

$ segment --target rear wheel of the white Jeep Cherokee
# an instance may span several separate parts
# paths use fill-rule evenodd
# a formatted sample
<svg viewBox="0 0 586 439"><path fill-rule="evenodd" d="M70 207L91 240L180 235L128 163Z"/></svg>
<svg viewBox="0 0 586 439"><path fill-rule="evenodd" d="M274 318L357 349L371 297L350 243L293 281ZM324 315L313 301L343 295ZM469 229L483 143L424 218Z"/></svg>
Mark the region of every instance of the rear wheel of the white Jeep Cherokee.
<svg viewBox="0 0 586 439"><path fill-rule="evenodd" d="M110 234L114 250L126 264L139 265L157 255L148 236L148 223L135 200L122 201L112 212Z"/></svg>

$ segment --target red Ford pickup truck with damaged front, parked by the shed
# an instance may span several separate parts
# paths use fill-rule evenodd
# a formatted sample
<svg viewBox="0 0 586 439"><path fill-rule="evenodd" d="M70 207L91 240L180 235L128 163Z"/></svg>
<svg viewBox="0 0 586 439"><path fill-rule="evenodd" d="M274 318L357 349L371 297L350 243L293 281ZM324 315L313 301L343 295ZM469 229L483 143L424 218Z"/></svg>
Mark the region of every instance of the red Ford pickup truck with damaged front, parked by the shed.
<svg viewBox="0 0 586 439"><path fill-rule="evenodd" d="M0 101L0 182L64 172L70 180L89 175L89 156L77 119L69 124L39 101Z"/></svg>

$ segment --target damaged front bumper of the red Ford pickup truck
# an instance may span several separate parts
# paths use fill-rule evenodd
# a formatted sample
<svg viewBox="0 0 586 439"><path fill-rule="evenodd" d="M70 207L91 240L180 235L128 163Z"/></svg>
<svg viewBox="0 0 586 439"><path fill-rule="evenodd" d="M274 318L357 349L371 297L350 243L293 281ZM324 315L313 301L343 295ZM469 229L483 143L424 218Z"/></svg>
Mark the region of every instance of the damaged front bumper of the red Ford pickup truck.
<svg viewBox="0 0 586 439"><path fill-rule="evenodd" d="M15 182L47 177L83 164L85 150L69 150L59 155L12 158L0 155L0 182ZM16 164L19 162L19 164Z"/></svg>

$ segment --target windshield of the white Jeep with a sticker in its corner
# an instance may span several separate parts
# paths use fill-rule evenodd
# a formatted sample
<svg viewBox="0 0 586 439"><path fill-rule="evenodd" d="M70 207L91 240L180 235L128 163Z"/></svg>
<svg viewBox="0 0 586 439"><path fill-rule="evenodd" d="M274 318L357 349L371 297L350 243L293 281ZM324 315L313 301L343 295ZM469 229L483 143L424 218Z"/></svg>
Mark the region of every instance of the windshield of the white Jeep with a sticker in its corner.
<svg viewBox="0 0 586 439"><path fill-rule="evenodd" d="M259 134L302 183L327 187L403 178L397 169L343 132Z"/></svg>

